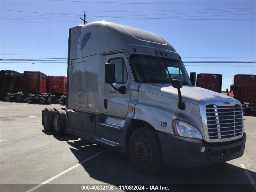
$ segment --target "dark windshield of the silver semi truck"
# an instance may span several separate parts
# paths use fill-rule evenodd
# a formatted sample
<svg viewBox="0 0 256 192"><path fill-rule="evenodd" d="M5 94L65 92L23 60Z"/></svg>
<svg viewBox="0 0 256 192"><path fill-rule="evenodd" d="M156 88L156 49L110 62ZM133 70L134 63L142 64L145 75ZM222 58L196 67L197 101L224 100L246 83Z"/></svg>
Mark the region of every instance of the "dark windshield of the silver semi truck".
<svg viewBox="0 0 256 192"><path fill-rule="evenodd" d="M168 58L133 54L130 64L136 82L171 83L172 79L191 85L182 61Z"/></svg>

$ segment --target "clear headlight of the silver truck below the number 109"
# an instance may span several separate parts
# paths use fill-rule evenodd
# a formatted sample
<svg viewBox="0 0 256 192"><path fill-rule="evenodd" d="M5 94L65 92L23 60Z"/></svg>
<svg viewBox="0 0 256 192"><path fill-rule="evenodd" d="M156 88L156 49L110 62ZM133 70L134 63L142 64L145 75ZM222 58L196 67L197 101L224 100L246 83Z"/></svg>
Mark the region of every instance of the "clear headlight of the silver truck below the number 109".
<svg viewBox="0 0 256 192"><path fill-rule="evenodd" d="M195 139L203 139L201 132L193 125L182 120L174 120L172 122L174 134L182 137Z"/></svg>

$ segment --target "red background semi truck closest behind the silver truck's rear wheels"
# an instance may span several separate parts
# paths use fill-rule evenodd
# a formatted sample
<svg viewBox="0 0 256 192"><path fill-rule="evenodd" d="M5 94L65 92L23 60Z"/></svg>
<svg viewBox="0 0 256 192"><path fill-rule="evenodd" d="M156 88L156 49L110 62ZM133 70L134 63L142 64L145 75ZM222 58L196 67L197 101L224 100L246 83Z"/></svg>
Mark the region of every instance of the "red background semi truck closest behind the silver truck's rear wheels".
<svg viewBox="0 0 256 192"><path fill-rule="evenodd" d="M66 82L66 76L48 76L46 81L47 94L40 95L40 103L57 103L63 96L66 96Z"/></svg>

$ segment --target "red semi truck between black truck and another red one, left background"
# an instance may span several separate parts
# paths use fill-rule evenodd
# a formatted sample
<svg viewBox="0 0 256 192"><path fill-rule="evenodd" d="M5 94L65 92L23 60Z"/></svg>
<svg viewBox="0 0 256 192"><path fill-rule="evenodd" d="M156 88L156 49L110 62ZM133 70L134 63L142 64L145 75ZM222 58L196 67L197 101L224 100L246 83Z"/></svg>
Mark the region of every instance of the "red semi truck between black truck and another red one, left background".
<svg viewBox="0 0 256 192"><path fill-rule="evenodd" d="M40 94L46 93L46 74L40 71L24 71L23 77L23 90L16 93L16 101L38 102Z"/></svg>

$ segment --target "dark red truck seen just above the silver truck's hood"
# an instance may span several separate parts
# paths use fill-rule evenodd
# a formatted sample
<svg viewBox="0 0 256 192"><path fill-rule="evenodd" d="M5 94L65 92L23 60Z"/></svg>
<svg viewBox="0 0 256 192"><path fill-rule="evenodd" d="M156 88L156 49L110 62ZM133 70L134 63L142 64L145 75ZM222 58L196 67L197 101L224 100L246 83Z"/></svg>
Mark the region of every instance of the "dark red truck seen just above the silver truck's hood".
<svg viewBox="0 0 256 192"><path fill-rule="evenodd" d="M196 86L221 93L222 74L211 74L211 73L197 74Z"/></svg>

